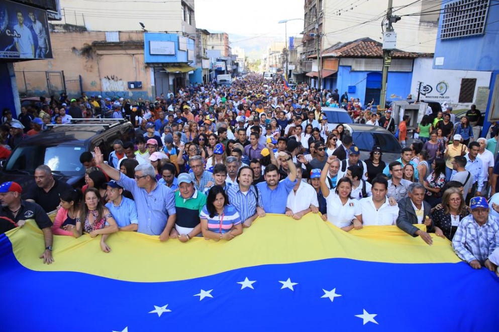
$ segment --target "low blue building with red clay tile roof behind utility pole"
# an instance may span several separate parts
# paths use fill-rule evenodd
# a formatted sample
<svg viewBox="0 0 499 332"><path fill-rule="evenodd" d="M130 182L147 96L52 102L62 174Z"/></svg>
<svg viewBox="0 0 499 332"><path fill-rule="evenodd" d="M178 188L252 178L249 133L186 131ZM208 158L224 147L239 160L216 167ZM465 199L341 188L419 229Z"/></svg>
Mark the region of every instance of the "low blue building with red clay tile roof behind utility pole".
<svg viewBox="0 0 499 332"><path fill-rule="evenodd" d="M431 56L433 55L392 51L386 95L388 97L392 94L404 97L409 95L414 59ZM325 50L322 57L323 88L331 91L337 88L340 96L348 92L349 97L359 98L364 105L370 103L372 99L375 105L379 104L383 68L381 43L370 38L338 43Z"/></svg>

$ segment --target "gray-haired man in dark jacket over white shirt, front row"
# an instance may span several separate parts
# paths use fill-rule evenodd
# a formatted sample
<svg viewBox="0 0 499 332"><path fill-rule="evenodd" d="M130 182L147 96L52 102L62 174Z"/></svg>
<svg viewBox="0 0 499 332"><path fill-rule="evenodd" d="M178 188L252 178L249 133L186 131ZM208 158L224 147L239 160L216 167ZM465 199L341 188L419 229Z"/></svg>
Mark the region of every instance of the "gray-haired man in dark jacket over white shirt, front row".
<svg viewBox="0 0 499 332"><path fill-rule="evenodd" d="M407 189L409 197L398 202L397 227L411 236L420 236L429 245L433 239L425 231L420 230L415 224L425 224L429 232L433 231L433 222L430 219L431 206L424 201L425 187L420 183L412 183Z"/></svg>

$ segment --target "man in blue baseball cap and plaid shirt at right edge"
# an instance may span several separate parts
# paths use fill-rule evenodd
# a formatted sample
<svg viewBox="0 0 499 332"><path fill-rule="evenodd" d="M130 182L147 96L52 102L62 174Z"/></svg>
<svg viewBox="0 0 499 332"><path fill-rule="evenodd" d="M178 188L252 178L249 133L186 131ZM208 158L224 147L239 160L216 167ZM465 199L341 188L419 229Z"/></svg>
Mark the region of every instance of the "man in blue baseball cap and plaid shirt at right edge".
<svg viewBox="0 0 499 332"><path fill-rule="evenodd" d="M459 258L472 268L484 265L490 271L494 266L488 257L499 247L499 219L489 214L484 197L473 197L469 202L471 214L458 224L452 247Z"/></svg>

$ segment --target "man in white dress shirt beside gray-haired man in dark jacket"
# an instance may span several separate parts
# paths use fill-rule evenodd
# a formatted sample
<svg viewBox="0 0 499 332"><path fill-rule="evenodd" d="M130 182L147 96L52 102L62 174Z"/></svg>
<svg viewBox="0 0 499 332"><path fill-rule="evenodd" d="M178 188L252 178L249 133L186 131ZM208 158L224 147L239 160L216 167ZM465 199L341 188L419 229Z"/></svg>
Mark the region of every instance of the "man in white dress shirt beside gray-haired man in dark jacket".
<svg viewBox="0 0 499 332"><path fill-rule="evenodd" d="M398 206L390 206L386 193L388 181L382 177L372 180L372 196L360 200L362 224L364 226L395 225L398 218Z"/></svg>

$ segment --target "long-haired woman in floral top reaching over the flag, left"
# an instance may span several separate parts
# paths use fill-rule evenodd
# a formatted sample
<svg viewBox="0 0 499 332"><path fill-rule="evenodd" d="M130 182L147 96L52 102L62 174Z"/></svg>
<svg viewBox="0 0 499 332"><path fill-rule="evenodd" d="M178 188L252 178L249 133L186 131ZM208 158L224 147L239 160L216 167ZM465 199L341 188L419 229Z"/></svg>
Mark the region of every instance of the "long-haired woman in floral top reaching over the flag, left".
<svg viewBox="0 0 499 332"><path fill-rule="evenodd" d="M109 234L118 232L118 224L108 208L102 204L101 195L95 188L86 190L79 220L81 222L76 222L78 236L83 232L88 233L92 238L101 234L101 249L104 252L110 252L111 248L106 244L106 239ZM109 224L108 227L106 223Z"/></svg>

